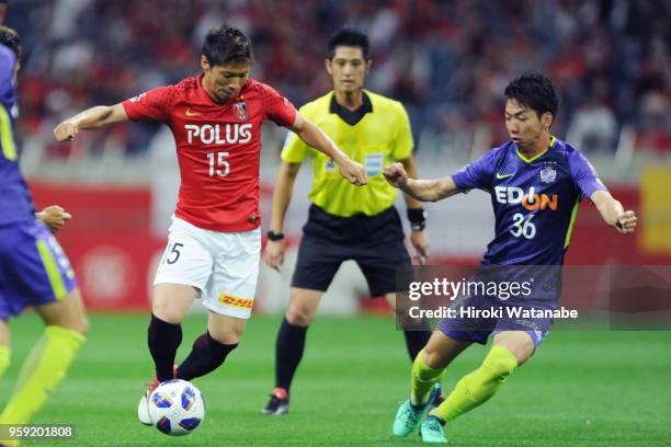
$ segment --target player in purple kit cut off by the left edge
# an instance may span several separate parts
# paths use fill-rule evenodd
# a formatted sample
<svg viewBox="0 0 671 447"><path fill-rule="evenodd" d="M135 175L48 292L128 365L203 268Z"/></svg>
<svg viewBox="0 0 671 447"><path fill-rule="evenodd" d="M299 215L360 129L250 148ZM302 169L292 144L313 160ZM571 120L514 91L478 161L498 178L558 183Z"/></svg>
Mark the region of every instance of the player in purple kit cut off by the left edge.
<svg viewBox="0 0 671 447"><path fill-rule="evenodd" d="M65 377L88 331L75 274L52 234L70 215L56 205L35 214L19 171L13 125L20 57L19 35L0 25L0 377L10 363L9 318L33 307L46 328L22 366L0 425L31 421ZM18 442L0 439L0 445Z"/></svg>

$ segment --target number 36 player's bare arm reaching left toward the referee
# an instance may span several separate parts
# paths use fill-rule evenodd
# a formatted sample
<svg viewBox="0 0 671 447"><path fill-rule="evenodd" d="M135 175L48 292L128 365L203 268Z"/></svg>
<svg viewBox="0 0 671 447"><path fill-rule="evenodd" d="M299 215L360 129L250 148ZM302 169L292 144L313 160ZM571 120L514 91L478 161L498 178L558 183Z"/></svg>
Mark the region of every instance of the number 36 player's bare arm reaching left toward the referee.
<svg viewBox="0 0 671 447"><path fill-rule="evenodd" d="M399 162L385 167L383 174L391 186L398 187L420 202L437 202L462 192L450 175L439 180L410 179Z"/></svg>

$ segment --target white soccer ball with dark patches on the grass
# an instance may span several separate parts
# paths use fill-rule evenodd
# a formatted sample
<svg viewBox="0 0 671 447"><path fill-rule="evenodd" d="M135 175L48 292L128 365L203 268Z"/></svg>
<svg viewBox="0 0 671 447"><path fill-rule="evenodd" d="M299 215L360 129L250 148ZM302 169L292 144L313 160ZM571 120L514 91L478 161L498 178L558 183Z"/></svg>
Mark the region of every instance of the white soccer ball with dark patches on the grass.
<svg viewBox="0 0 671 447"><path fill-rule="evenodd" d="M149 417L159 429L170 436L193 432L205 417L201 391L186 380L167 380L149 396Z"/></svg>

